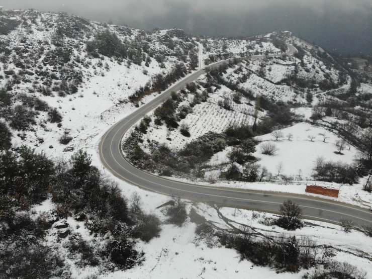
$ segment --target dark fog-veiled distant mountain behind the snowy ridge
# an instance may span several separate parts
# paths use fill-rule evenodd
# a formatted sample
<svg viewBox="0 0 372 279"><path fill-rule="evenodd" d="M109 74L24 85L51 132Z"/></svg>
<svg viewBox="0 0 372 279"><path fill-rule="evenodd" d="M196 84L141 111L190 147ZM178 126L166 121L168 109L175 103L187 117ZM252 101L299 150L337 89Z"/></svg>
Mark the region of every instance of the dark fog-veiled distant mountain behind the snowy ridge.
<svg viewBox="0 0 372 279"><path fill-rule="evenodd" d="M333 53L372 54L372 11L341 11L332 7L318 13L307 7L276 5L259 12L203 13L179 9L170 17L138 22L141 28L176 26L192 34L209 36L256 35L275 30L290 30L295 35ZM174 24L173 24L174 23Z"/></svg>

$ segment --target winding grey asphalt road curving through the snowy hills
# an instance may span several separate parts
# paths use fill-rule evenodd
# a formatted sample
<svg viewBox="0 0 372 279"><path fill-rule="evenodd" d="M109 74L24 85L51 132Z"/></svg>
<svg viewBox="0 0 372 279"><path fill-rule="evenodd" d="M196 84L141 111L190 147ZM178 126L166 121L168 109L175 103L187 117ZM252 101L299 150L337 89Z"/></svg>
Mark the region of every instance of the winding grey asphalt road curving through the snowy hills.
<svg viewBox="0 0 372 279"><path fill-rule="evenodd" d="M296 49L288 45L287 55L292 55ZM267 55L277 56L277 55ZM259 59L265 55L250 56L243 59ZM228 59L217 62L209 67L217 67L229 62ZM190 184L174 181L144 172L130 164L121 152L121 139L124 134L146 113L164 102L171 91L178 91L187 83L196 80L205 70L200 69L179 81L177 84L164 91L154 100L143 105L138 110L113 125L102 137L99 144L101 161L105 167L115 176L140 188L156 193L179 196L196 202L209 202L228 207L237 207L277 213L280 204L291 199L303 209L303 217L331 223L338 223L341 218L352 219L354 224L372 226L372 212L356 206L338 203L334 201L313 198L303 195L291 195L282 193L265 193L260 191L234 190L220 187L208 187L205 185Z"/></svg>

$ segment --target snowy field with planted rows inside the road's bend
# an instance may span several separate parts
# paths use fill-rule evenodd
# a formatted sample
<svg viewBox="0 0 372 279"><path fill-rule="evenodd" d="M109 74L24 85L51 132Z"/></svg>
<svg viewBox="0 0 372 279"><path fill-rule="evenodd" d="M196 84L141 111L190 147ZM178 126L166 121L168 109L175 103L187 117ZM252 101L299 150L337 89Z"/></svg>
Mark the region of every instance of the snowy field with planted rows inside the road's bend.
<svg viewBox="0 0 372 279"><path fill-rule="evenodd" d="M202 95L207 92L208 88L204 88L202 84L206 82L206 77L201 76L198 79L198 94ZM206 93L204 93L206 94ZM199 96L198 95L198 96ZM222 85L220 88L214 88L213 92L208 93L208 98L198 104L195 101L198 96L189 94L184 97L178 105L177 112L180 113L185 108L191 108L192 112L185 115L184 119L180 120L180 126L187 125L190 130L190 136L184 137L181 134L181 127L178 129L168 129L166 126L150 123L149 130L144 136L145 142L143 145L147 148L147 144L151 141L166 142L171 148L180 149L184 144L203 136L208 132L220 133L231 125L252 125L254 122L254 108L249 103L249 100L241 97L239 104L233 102L233 92L228 87ZM228 100L229 110L224 109L219 105L219 102ZM189 109L188 109L189 110ZM150 115L149 115L150 116ZM151 115L153 120L155 117Z"/></svg>

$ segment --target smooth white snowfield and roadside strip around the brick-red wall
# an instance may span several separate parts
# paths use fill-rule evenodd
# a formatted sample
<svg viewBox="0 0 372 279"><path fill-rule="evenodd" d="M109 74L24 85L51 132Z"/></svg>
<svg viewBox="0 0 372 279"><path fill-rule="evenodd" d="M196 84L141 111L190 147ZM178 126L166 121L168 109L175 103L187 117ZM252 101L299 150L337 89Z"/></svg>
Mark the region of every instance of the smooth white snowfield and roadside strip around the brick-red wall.
<svg viewBox="0 0 372 279"><path fill-rule="evenodd" d="M339 139L337 135L322 127L314 126L305 122L295 124L294 126L281 131L284 136L277 141L271 134L260 136L259 140L262 142L256 146L256 152L253 153L253 155L260 159L257 163L261 166L265 166L273 176L278 172L278 164L282 163L280 174L292 176L293 181L285 183L285 181L275 181L275 179L273 179L273 182L245 182L221 179L221 169L229 162L227 153L231 151L232 147L227 147L225 150L212 156L207 163L211 168L206 170L203 179L189 180L179 177L172 177L172 179L208 185L210 187L227 187L320 197L319 195L306 193L305 191L307 184L317 184L339 189L340 191L338 198L326 196L321 196L321 198L350 203L364 208L372 207L372 194L362 190L366 177L360 178L359 182L353 185L314 181L312 178L317 157L323 157L326 161L341 161L350 164L356 159L355 155L357 154L357 150L353 146L347 146L342 151L343 155L337 154L338 150L335 146L335 142ZM292 134L292 139L288 140L287 135L290 133ZM324 134L326 137L325 142L323 142L323 135L319 134ZM315 136L313 141L308 138L308 135ZM162 138L160 138L160 140L161 139ZM173 142L173 140L171 142ZM260 146L264 142L275 144L277 151L274 156L268 156L261 153ZM181 141L179 144L182 146L184 142Z"/></svg>

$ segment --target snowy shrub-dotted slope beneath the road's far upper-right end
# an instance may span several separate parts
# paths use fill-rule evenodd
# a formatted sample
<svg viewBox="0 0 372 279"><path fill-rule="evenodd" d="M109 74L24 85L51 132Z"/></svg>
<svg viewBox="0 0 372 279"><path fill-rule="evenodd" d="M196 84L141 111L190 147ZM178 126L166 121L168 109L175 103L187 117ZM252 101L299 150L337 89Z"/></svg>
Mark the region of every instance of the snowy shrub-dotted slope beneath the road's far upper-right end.
<svg viewBox="0 0 372 279"><path fill-rule="evenodd" d="M287 39L297 47L293 56L280 56L238 64L225 78L256 95L275 101L306 104L308 95L347 84L347 74L316 47L296 37Z"/></svg>

